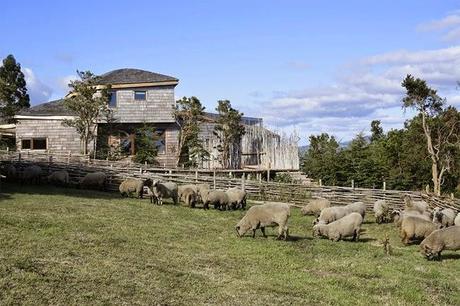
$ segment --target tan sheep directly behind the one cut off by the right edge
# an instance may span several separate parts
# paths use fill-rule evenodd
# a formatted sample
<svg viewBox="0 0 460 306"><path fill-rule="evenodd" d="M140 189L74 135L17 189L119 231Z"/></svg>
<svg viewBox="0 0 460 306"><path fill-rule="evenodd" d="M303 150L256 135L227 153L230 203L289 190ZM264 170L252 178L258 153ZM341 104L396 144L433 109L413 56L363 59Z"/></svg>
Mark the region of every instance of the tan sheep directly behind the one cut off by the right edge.
<svg viewBox="0 0 460 306"><path fill-rule="evenodd" d="M415 216L406 216L401 222L401 241L408 245L411 240L421 240L437 230L439 225Z"/></svg>

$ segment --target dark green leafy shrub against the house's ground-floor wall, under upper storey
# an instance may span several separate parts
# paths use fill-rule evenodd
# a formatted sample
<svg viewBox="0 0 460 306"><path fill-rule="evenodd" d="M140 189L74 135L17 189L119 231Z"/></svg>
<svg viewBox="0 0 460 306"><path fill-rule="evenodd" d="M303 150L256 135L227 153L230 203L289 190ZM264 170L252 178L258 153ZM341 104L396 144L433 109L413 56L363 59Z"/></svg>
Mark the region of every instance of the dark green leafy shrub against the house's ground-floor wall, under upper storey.
<svg viewBox="0 0 460 306"><path fill-rule="evenodd" d="M158 131L153 126L144 124L136 131L136 155L133 161L136 163L155 164L158 155L157 141L159 140Z"/></svg>

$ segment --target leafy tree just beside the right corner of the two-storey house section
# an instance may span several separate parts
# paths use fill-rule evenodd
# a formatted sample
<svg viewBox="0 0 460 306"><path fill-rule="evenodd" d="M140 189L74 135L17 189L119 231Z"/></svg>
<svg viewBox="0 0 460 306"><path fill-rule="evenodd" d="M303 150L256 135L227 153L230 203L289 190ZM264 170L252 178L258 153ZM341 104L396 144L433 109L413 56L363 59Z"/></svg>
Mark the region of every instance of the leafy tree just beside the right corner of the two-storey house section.
<svg viewBox="0 0 460 306"><path fill-rule="evenodd" d="M183 97L176 102L174 117L180 127L178 164L197 167L200 160L209 156L199 138L204 109L197 97Z"/></svg>

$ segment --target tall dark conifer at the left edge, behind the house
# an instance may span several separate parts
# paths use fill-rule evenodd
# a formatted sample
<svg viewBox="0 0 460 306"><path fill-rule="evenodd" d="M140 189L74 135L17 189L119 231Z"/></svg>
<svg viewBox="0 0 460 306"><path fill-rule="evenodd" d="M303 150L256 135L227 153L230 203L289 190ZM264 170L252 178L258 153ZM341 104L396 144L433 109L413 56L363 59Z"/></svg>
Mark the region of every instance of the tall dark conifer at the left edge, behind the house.
<svg viewBox="0 0 460 306"><path fill-rule="evenodd" d="M14 115L19 110L30 107L29 100L21 65L10 54L0 67L0 111L4 120L14 122Z"/></svg>

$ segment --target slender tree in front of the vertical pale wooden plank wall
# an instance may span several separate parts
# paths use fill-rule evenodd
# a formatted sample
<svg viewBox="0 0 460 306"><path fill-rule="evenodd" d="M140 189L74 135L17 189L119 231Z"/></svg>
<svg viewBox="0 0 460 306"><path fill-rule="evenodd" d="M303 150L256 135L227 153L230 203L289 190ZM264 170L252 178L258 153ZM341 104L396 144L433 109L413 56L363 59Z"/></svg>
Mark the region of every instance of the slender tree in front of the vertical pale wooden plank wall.
<svg viewBox="0 0 460 306"><path fill-rule="evenodd" d="M219 100L216 111L219 118L214 128L214 135L220 142L217 149L221 153L222 167L239 168L241 159L232 157L241 156L241 138L245 134L244 125L241 124L243 113L234 109L228 100Z"/></svg>

